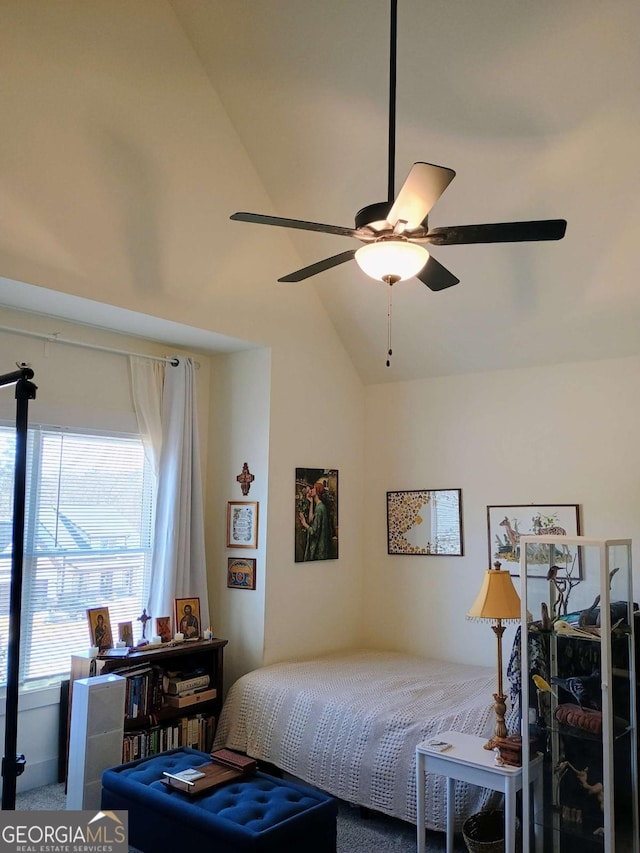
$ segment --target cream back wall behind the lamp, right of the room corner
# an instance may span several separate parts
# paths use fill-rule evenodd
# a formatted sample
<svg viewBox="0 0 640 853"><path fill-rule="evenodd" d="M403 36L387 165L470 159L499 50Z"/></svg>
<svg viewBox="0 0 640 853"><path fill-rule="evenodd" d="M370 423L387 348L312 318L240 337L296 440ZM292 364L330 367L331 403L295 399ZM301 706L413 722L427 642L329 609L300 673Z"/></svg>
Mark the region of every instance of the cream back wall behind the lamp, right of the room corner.
<svg viewBox="0 0 640 853"><path fill-rule="evenodd" d="M637 553L639 384L628 358L368 388L367 640L493 664L493 633L465 620L489 568L487 505L579 504L585 535ZM423 488L462 488L464 557L387 555L386 492ZM634 585L640 600L638 559Z"/></svg>

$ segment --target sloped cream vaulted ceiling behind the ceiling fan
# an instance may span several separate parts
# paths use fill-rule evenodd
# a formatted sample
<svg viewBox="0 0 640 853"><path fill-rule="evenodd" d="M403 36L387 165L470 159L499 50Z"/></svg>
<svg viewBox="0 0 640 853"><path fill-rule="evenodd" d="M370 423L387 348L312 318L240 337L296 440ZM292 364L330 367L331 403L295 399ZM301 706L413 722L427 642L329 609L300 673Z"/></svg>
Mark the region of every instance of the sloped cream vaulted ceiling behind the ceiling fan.
<svg viewBox="0 0 640 853"><path fill-rule="evenodd" d="M171 5L271 199L257 212L351 226L385 199L388 0ZM316 289L365 382L640 352L639 32L636 0L399 0L396 187L436 163L457 177L432 227L568 227L559 242L434 248L460 284L394 287L390 368L386 285L354 262L280 284ZM301 267L359 245L290 239Z"/></svg>

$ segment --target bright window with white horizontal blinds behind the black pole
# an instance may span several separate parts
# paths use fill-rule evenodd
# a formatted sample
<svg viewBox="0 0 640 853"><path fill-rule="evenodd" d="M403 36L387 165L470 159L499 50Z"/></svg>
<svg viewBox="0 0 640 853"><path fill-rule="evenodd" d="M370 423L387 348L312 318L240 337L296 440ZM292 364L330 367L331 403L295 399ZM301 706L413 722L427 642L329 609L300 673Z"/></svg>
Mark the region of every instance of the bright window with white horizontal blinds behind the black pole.
<svg viewBox="0 0 640 853"><path fill-rule="evenodd" d="M136 622L151 569L153 475L138 436L29 429L20 683L65 678L86 610ZM15 426L0 425L0 681L6 683Z"/></svg>

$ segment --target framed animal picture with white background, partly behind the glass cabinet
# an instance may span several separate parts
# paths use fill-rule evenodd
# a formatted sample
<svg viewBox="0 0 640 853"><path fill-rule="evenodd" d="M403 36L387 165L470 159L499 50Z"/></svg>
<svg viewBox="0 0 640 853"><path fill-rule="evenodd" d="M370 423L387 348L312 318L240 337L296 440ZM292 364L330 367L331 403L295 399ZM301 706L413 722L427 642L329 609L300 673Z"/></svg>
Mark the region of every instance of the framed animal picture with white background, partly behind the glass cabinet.
<svg viewBox="0 0 640 853"><path fill-rule="evenodd" d="M506 563L512 575L520 574L521 536L580 536L579 504L503 504L487 507L489 566L495 560ZM571 545L529 546L527 565L531 577L546 577L551 566L558 577L582 578L578 548ZM538 567L539 566L539 570Z"/></svg>

